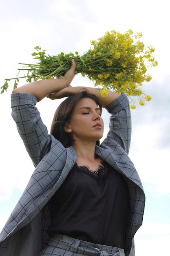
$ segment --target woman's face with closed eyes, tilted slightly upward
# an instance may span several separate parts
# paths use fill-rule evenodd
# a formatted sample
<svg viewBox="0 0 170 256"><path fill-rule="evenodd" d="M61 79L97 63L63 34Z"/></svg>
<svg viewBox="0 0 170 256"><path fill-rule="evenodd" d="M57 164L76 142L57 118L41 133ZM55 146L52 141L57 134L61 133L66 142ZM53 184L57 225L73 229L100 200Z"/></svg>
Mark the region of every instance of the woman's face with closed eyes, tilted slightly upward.
<svg viewBox="0 0 170 256"><path fill-rule="evenodd" d="M71 132L76 142L96 142L101 139L104 122L95 101L90 98L80 99L72 112L71 121L65 127L65 131Z"/></svg>

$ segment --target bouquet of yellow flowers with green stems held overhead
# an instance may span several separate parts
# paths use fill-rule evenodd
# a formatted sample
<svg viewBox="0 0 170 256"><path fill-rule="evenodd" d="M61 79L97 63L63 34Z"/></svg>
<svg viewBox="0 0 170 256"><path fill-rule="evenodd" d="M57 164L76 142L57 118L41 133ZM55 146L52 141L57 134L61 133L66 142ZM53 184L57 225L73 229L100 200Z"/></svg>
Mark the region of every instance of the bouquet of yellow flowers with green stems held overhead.
<svg viewBox="0 0 170 256"><path fill-rule="evenodd" d="M144 101L149 101L151 97L141 90L144 81L150 81L152 77L146 74L147 67L157 66L157 61L152 53L155 49L152 46L145 46L139 39L141 33L133 33L132 30L125 34L115 30L106 32L104 36L97 40L92 40L91 47L82 56L75 52L64 54L61 52L55 56L46 56L45 50L39 46L35 47L36 52L32 56L38 60L35 64L25 64L25 67L19 68L20 71L27 71L27 75L16 77L14 88L17 87L20 78L26 78L27 82L39 79L49 79L64 75L71 67L71 60L74 58L76 63L75 74L81 73L94 81L103 97L107 95L108 90L114 90L119 93L126 93L132 100L137 97L139 104L144 105ZM135 40L135 41L134 41ZM11 79L5 79L2 91L7 90L8 82Z"/></svg>

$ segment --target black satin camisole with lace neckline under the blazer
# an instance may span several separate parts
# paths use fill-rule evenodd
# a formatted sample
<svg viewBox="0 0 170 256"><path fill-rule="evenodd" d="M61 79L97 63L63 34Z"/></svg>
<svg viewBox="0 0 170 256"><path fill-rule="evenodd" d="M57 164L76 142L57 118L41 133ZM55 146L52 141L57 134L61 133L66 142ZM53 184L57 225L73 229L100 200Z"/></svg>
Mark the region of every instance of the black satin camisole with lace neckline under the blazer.
<svg viewBox="0 0 170 256"><path fill-rule="evenodd" d="M105 162L97 171L73 166L51 199L48 233L124 248L128 189Z"/></svg>

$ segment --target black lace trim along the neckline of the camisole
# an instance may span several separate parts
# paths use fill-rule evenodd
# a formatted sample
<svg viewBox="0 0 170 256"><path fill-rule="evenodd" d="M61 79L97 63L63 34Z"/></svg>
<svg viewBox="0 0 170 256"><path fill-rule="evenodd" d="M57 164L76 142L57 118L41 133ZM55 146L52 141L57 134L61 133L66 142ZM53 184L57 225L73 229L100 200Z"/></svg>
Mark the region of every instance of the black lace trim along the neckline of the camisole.
<svg viewBox="0 0 170 256"><path fill-rule="evenodd" d="M84 173L93 177L97 181L97 184L102 184L103 181L108 177L108 165L104 161L102 161L101 164L98 165L96 171L92 171L86 165L78 166L77 163L75 163L74 168L79 171L83 171Z"/></svg>

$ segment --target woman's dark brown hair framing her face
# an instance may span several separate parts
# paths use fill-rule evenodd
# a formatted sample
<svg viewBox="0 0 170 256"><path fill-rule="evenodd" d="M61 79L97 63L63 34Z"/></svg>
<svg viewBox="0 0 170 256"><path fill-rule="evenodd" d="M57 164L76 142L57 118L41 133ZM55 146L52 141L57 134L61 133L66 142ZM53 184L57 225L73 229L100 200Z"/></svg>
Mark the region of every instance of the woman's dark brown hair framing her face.
<svg viewBox="0 0 170 256"><path fill-rule="evenodd" d="M64 147L69 147L72 145L73 138L71 133L65 132L64 127L67 123L71 121L71 115L75 105L82 98L90 98L97 106L100 108L102 112L102 101L95 96L95 94L89 93L88 90L83 90L78 92L77 94L71 95L66 98L55 111L53 122L51 124L50 133L58 139ZM96 144L99 145L99 141L96 141Z"/></svg>

